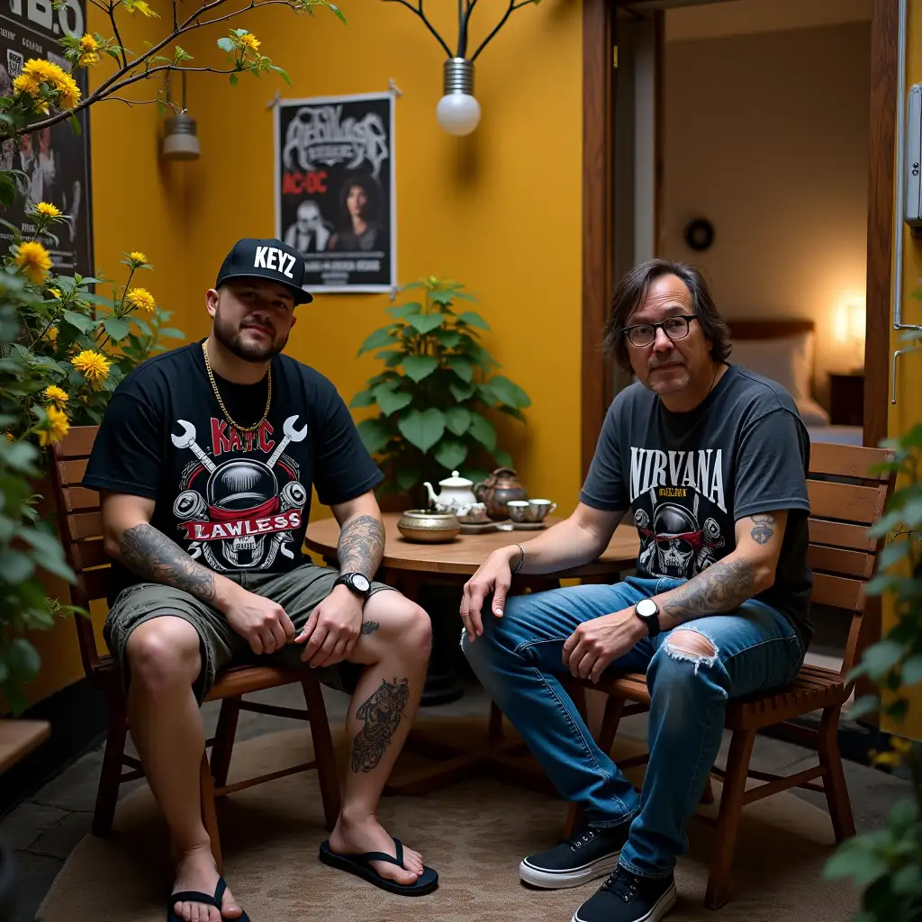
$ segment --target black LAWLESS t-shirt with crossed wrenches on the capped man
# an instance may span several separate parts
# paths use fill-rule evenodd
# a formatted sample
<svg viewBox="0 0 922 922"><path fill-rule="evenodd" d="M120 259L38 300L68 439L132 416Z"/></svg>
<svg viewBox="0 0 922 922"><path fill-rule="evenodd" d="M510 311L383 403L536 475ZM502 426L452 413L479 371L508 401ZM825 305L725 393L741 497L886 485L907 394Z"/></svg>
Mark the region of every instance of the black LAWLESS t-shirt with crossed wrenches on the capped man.
<svg viewBox="0 0 922 922"><path fill-rule="evenodd" d="M219 407L201 342L144 362L112 395L84 485L154 500L151 525L216 573L297 567L312 484L334 505L384 478L330 381L285 355L272 359L271 377L266 419L242 431ZM233 420L262 419L268 376L215 381ZM140 581L112 569L111 600Z"/></svg>

